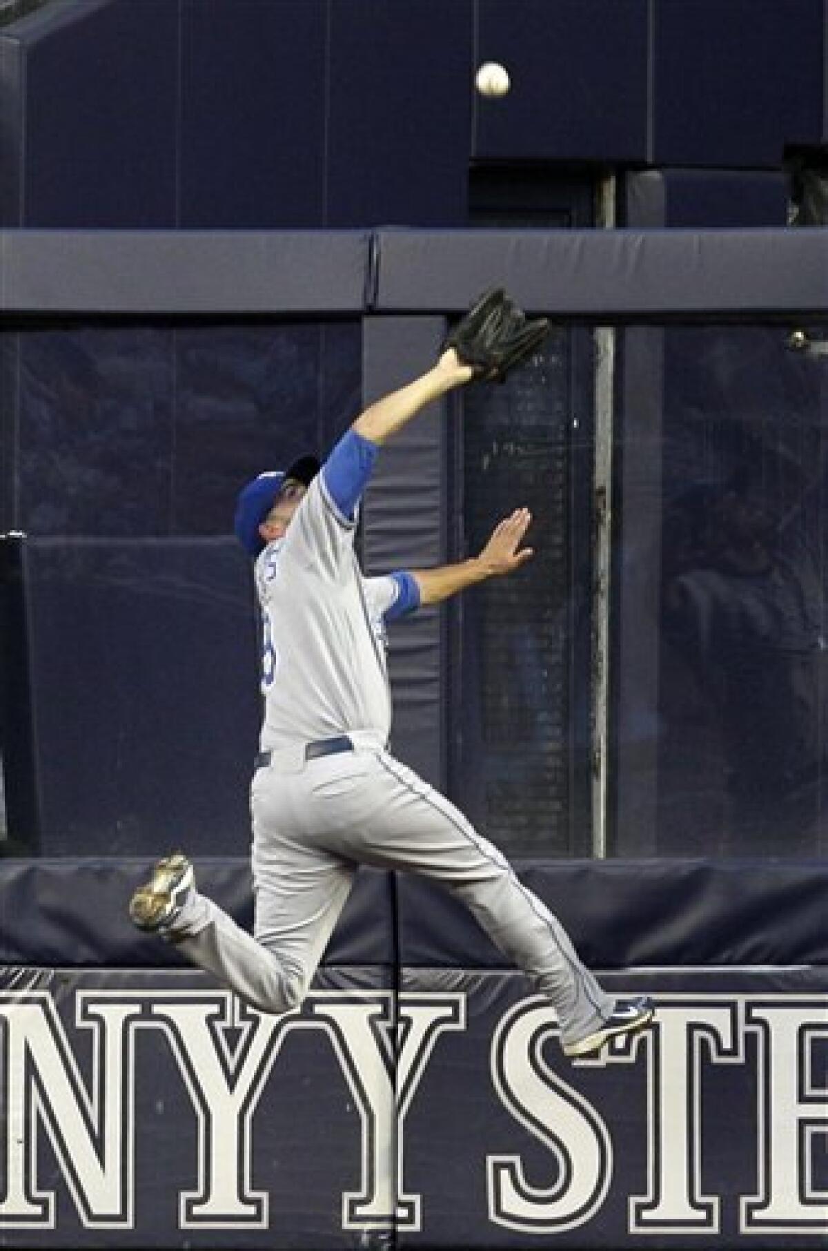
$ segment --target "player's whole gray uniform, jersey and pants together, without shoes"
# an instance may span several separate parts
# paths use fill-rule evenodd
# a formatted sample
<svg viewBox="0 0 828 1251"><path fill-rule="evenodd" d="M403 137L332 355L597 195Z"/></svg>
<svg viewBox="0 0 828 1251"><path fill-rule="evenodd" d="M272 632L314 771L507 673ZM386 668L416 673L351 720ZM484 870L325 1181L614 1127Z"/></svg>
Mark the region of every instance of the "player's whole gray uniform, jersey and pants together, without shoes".
<svg viewBox="0 0 828 1251"><path fill-rule="evenodd" d="M345 440L339 449L346 452ZM384 620L405 608L409 575L363 578L355 522L331 497L326 468L286 535L255 564L261 748L270 753L250 794L255 937L193 891L176 921L179 951L260 1010L290 1011L310 985L356 866L408 869L470 908L555 1005L562 1038L577 1042L607 1020L613 998L498 848L384 749L391 718ZM354 736L353 751L306 758L305 743L345 734Z"/></svg>

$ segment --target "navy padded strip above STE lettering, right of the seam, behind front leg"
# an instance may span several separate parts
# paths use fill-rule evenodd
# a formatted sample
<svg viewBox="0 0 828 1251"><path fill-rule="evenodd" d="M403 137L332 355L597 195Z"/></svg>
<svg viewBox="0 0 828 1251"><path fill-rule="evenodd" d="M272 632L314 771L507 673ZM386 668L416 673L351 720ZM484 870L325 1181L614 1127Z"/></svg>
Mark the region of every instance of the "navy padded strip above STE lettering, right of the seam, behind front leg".
<svg viewBox="0 0 828 1251"><path fill-rule="evenodd" d="M828 963L822 862L522 861L520 879L595 968ZM403 965L507 967L437 887L401 877L398 908Z"/></svg>

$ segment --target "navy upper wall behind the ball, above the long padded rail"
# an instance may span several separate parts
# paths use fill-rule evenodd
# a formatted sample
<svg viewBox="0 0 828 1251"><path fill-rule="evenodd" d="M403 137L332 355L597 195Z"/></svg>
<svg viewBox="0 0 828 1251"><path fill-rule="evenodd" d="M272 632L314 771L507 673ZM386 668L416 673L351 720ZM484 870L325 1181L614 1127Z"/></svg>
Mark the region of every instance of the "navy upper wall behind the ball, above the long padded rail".
<svg viewBox="0 0 828 1251"><path fill-rule="evenodd" d="M824 0L46 6L0 36L0 220L462 225L470 161L778 173L827 135L824 29ZM697 190L679 216L729 224Z"/></svg>

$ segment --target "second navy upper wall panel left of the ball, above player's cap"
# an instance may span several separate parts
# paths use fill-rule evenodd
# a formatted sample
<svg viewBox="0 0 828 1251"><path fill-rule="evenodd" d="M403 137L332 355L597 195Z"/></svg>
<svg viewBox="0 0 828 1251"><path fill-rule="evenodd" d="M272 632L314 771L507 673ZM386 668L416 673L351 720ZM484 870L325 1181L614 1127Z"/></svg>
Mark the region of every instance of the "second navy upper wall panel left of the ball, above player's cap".
<svg viewBox="0 0 828 1251"><path fill-rule="evenodd" d="M320 0L185 0L178 225L325 225L325 21Z"/></svg>

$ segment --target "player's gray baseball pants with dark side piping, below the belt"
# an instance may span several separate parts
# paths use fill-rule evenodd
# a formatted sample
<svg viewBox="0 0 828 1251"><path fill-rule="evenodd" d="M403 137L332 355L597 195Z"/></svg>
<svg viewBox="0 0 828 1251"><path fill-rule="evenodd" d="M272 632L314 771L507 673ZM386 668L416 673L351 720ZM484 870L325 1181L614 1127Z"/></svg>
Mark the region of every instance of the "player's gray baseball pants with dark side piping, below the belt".
<svg viewBox="0 0 828 1251"><path fill-rule="evenodd" d="M175 941L254 1007L281 1013L301 1002L356 867L373 864L422 873L462 899L549 997L563 1043L612 1013L614 998L504 856L370 739L309 762L279 753L254 774L251 813L255 937L196 892L176 919Z"/></svg>

